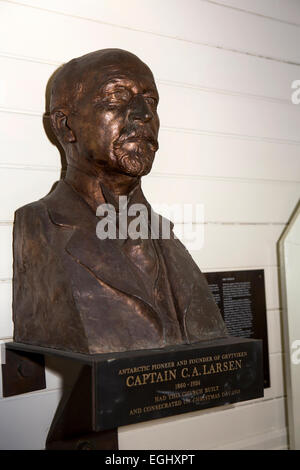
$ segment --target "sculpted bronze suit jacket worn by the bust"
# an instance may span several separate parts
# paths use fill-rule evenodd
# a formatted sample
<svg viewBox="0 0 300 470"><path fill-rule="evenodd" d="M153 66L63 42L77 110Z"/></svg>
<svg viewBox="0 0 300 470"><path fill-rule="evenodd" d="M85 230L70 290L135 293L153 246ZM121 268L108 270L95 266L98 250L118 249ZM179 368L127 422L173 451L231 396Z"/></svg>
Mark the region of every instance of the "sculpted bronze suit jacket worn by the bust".
<svg viewBox="0 0 300 470"><path fill-rule="evenodd" d="M155 240L161 272L158 305L118 240L97 237L98 222L64 181L16 211L15 341L96 354L227 335L203 274L176 237Z"/></svg>

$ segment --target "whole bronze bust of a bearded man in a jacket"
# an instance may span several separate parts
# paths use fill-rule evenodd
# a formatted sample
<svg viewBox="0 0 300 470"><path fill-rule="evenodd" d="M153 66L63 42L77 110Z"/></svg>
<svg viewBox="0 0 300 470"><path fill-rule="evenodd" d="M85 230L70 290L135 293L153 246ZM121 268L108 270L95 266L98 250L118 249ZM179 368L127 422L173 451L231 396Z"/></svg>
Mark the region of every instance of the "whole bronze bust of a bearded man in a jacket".
<svg viewBox="0 0 300 470"><path fill-rule="evenodd" d="M15 341L96 354L226 336L204 276L172 230L151 236L149 218L147 237L99 237L103 204L116 209L117 235L118 200L126 200L126 226L134 204L153 212L141 177L158 149L158 99L147 65L120 49L56 72L50 117L67 172L15 214Z"/></svg>

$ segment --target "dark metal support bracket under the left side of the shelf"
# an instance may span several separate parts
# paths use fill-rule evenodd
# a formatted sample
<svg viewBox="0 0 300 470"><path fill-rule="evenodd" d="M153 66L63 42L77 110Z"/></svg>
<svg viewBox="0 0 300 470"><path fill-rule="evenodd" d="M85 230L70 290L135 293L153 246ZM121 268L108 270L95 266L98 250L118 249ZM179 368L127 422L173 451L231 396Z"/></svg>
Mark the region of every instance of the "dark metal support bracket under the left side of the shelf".
<svg viewBox="0 0 300 470"><path fill-rule="evenodd" d="M46 388L44 356L71 356L38 346L7 343L2 367L3 397ZM87 361L71 390L58 405L46 440L47 450L117 450L118 430L97 431L95 425L94 365Z"/></svg>

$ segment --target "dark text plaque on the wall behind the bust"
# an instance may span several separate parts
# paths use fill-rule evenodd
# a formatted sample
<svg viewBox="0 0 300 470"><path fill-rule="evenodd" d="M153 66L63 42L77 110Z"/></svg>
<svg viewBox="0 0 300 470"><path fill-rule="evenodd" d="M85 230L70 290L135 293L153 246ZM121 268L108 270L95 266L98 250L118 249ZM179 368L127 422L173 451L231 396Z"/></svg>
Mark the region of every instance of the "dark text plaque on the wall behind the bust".
<svg viewBox="0 0 300 470"><path fill-rule="evenodd" d="M270 387L264 270L204 274L229 334L263 340L264 387Z"/></svg>

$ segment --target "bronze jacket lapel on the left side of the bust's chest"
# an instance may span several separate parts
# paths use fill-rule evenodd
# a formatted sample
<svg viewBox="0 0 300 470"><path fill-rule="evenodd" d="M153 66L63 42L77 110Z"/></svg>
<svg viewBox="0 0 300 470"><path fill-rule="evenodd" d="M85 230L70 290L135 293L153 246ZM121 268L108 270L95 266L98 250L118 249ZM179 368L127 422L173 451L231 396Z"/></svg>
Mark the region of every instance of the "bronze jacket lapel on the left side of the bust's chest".
<svg viewBox="0 0 300 470"><path fill-rule="evenodd" d="M96 235L99 218L64 181L44 198L52 222L70 230L67 253L110 287L137 297L155 310L143 282L118 240L100 240Z"/></svg>

